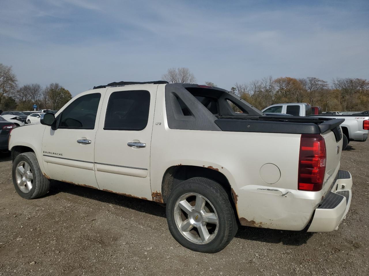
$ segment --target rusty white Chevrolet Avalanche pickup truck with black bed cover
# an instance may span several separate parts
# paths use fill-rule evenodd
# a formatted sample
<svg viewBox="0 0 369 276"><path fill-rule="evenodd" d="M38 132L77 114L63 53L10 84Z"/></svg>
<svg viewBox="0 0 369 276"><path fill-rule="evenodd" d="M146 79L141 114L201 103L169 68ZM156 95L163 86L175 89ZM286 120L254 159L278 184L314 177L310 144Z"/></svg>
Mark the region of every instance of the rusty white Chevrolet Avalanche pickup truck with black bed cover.
<svg viewBox="0 0 369 276"><path fill-rule="evenodd" d="M343 121L265 116L206 85L114 82L15 128L13 183L26 199L54 179L164 203L170 233L200 252L238 225L333 231L352 198Z"/></svg>

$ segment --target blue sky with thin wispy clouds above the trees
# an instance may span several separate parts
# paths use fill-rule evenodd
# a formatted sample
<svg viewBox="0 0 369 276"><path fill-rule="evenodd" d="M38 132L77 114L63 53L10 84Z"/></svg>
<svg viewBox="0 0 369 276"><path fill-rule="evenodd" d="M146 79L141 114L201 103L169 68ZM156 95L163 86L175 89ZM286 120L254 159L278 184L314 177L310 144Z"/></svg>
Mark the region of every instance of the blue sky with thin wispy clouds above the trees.
<svg viewBox="0 0 369 276"><path fill-rule="evenodd" d="M369 1L1 0L0 63L76 95L188 67L230 89L268 75L369 79Z"/></svg>

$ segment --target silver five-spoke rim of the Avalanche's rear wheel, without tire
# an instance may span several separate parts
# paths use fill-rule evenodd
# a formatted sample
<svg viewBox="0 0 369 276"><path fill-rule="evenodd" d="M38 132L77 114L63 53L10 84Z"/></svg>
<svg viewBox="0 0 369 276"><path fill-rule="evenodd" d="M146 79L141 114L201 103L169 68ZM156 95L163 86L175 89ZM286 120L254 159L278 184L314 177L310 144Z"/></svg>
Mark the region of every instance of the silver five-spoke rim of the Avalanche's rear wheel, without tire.
<svg viewBox="0 0 369 276"><path fill-rule="evenodd" d="M189 241L207 244L217 236L219 220L211 202L197 193L180 197L174 207L177 229Z"/></svg>

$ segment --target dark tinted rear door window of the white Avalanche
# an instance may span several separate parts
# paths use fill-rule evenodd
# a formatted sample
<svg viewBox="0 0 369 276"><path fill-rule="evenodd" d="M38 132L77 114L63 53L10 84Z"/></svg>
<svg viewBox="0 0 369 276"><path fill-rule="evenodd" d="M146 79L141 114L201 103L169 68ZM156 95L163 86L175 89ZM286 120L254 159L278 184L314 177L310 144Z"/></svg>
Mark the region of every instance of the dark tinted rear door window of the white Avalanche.
<svg viewBox="0 0 369 276"><path fill-rule="evenodd" d="M149 118L150 93L144 90L111 93L104 130L143 130Z"/></svg>

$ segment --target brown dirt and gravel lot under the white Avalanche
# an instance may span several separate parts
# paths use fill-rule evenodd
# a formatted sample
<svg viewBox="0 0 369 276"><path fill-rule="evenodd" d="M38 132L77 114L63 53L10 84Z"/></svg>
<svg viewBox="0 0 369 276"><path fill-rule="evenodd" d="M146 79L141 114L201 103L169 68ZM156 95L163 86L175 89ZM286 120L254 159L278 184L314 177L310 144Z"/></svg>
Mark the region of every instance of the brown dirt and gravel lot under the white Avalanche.
<svg viewBox="0 0 369 276"><path fill-rule="evenodd" d="M368 275L369 142L351 142L347 219L331 233L240 227L221 252L183 248L154 202L54 182L26 200L0 158L0 275Z"/></svg>

